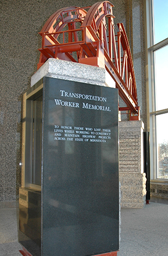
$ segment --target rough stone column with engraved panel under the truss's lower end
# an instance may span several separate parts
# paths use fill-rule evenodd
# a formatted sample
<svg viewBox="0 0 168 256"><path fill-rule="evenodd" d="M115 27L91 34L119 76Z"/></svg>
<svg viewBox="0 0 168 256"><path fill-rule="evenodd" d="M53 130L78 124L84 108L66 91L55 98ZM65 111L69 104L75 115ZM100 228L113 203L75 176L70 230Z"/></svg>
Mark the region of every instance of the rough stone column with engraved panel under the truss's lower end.
<svg viewBox="0 0 168 256"><path fill-rule="evenodd" d="M119 122L119 180L121 207L143 208L146 174L143 172L142 121Z"/></svg>

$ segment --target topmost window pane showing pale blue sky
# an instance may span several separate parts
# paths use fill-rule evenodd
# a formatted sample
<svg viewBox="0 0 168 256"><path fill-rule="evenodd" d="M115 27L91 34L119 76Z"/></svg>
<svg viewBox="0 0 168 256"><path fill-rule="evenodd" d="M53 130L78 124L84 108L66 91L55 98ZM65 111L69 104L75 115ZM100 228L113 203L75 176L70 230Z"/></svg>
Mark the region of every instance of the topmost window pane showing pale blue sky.
<svg viewBox="0 0 168 256"><path fill-rule="evenodd" d="M154 44L168 37L168 1L153 0Z"/></svg>

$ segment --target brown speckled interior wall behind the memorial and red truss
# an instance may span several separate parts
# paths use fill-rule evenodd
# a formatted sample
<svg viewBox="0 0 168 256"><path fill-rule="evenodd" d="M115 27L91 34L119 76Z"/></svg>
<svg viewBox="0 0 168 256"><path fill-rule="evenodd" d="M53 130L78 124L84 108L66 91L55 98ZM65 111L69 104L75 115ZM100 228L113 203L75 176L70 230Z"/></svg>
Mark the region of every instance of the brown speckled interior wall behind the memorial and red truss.
<svg viewBox="0 0 168 256"><path fill-rule="evenodd" d="M30 88L41 47L38 34L46 20L68 6L91 6L95 0L0 1L0 201L18 199L21 185L22 95ZM115 24L123 22L132 49L142 121L146 125L143 0L114 0ZM123 118L124 119L124 118Z"/></svg>

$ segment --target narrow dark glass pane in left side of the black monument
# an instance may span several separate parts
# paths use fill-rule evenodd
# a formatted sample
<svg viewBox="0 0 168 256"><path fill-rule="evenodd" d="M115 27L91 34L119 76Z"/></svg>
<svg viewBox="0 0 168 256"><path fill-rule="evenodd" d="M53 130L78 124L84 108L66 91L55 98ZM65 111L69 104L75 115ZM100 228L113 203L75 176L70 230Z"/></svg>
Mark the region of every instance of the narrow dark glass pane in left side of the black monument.
<svg viewBox="0 0 168 256"><path fill-rule="evenodd" d="M32 147L32 184L41 185L41 125L42 125L42 100L40 96L34 100L33 108L33 147Z"/></svg>

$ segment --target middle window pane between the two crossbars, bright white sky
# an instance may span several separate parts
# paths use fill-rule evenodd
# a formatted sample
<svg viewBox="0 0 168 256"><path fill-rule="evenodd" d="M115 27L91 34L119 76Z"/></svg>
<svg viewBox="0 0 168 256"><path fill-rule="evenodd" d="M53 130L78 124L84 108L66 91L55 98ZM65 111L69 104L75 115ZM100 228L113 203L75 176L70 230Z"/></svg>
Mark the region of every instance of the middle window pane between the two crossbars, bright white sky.
<svg viewBox="0 0 168 256"><path fill-rule="evenodd" d="M168 108L168 45L156 50L155 54L155 99L156 110Z"/></svg>

